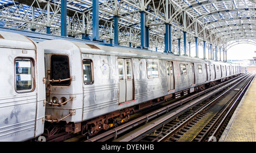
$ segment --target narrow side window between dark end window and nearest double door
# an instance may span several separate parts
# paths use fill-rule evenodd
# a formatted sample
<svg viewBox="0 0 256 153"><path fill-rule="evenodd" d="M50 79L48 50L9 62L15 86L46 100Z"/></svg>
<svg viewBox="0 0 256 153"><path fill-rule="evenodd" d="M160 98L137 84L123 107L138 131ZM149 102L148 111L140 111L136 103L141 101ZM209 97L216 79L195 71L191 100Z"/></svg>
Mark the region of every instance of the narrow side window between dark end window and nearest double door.
<svg viewBox="0 0 256 153"><path fill-rule="evenodd" d="M93 62L89 59L82 61L82 70L84 76L84 84L93 84Z"/></svg>

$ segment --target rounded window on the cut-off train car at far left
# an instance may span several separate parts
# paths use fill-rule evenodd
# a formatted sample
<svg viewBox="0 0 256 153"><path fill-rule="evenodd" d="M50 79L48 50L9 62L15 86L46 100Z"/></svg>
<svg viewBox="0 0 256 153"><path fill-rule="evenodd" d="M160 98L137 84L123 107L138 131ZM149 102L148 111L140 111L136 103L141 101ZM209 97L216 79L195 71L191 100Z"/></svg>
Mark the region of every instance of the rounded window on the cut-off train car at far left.
<svg viewBox="0 0 256 153"><path fill-rule="evenodd" d="M30 92L34 90L34 66L31 59L15 59L15 90Z"/></svg>

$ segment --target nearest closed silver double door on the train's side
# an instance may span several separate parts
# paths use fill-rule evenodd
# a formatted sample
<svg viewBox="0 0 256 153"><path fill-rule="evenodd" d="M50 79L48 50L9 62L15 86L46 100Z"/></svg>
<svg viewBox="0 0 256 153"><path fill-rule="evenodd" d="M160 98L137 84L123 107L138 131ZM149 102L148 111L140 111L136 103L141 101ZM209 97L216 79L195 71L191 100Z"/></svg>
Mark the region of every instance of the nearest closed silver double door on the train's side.
<svg viewBox="0 0 256 153"><path fill-rule="evenodd" d="M134 99L133 62L131 59L118 58L119 103Z"/></svg>

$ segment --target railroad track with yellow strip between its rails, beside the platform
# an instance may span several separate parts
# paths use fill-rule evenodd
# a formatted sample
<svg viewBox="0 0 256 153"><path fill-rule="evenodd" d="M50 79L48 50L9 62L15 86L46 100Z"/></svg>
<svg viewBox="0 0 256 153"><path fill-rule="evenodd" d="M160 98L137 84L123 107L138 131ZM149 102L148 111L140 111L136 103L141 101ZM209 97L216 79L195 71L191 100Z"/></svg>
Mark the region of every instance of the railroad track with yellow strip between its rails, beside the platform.
<svg viewBox="0 0 256 153"><path fill-rule="evenodd" d="M217 141L253 77L241 80L157 141Z"/></svg>

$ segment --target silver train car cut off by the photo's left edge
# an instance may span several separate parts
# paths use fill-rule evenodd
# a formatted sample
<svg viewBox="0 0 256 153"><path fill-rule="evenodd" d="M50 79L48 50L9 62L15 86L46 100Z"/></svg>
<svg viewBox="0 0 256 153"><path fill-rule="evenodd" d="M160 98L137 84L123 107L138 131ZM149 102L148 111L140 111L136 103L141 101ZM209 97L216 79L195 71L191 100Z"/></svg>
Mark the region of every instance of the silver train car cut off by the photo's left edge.
<svg viewBox="0 0 256 153"><path fill-rule="evenodd" d="M27 141L44 131L44 50L28 37L0 31L0 141Z"/></svg>

